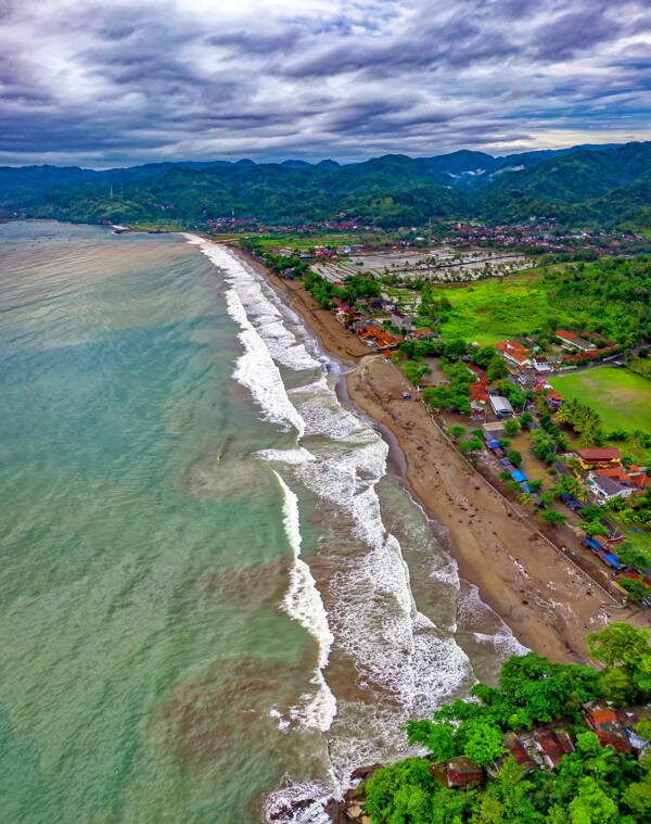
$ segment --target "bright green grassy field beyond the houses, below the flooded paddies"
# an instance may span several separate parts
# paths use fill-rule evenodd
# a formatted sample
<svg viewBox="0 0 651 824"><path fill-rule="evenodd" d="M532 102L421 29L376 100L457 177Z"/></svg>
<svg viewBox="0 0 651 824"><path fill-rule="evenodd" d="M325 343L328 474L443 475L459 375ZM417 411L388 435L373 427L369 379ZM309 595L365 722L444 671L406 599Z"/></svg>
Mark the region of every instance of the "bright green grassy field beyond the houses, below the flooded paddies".
<svg viewBox="0 0 651 824"><path fill-rule="evenodd" d="M536 269L524 275L489 278L463 286L441 286L435 294L447 297L452 312L442 325L445 338L463 338L482 345L505 338L558 327L582 328L582 317L550 305Z"/></svg>

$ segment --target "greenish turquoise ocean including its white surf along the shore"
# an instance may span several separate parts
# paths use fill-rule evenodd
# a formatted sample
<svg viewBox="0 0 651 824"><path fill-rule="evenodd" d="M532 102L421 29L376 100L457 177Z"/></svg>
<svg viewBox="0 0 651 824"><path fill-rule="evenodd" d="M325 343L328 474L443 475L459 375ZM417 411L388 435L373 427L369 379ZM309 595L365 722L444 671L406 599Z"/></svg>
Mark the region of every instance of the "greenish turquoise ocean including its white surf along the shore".
<svg viewBox="0 0 651 824"><path fill-rule="evenodd" d="M520 647L264 278L0 225L2 819L319 824Z"/></svg>

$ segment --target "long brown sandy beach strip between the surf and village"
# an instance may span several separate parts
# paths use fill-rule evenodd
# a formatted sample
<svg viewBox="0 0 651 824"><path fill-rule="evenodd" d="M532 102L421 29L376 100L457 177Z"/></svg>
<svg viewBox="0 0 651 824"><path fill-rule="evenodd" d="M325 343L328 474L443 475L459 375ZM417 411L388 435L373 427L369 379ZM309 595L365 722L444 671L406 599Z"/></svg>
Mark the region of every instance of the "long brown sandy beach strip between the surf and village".
<svg viewBox="0 0 651 824"><path fill-rule="evenodd" d="M392 468L425 514L447 529L459 575L477 587L525 647L551 660L586 662L586 634L610 620L630 619L634 610L617 608L514 514L449 444L424 405L403 398L413 388L391 363L347 332L299 283L232 249L286 294L324 351L350 367L342 394L388 442Z"/></svg>

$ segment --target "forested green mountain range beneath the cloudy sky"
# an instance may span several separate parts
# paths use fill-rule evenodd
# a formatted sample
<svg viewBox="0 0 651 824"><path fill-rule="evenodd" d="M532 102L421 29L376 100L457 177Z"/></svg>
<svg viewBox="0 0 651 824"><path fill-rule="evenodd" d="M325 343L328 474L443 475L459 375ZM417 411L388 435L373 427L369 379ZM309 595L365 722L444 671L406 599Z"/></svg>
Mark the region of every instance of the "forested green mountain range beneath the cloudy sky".
<svg viewBox="0 0 651 824"><path fill-rule="evenodd" d="M493 156L387 154L361 163L251 160L95 170L0 167L0 215L195 226L234 214L268 224L430 217L651 228L651 142Z"/></svg>

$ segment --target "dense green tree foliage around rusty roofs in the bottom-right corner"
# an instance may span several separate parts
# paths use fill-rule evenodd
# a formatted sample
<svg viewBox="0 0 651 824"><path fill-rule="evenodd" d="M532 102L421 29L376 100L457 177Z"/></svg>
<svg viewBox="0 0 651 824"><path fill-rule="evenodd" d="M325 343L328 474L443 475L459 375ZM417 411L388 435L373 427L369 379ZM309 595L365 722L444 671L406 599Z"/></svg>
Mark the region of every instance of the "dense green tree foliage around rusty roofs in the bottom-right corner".
<svg viewBox="0 0 651 824"><path fill-rule="evenodd" d="M615 705L651 698L649 632L615 623L589 636L602 671L578 664L552 664L533 652L509 659L497 687L477 684L473 700L457 700L434 720L411 721L411 744L427 758L409 758L379 770L368 781L366 811L373 824L638 824L651 812L651 753L638 762L580 725L580 706L596 698ZM549 772L523 775L512 757L502 760L485 786L448 789L432 765L464 755L490 764L503 752L506 731L536 723L575 725L576 750ZM640 722L640 735L651 723Z"/></svg>

